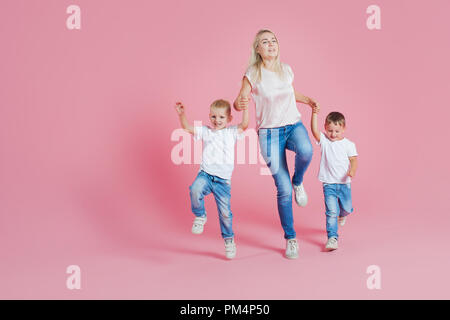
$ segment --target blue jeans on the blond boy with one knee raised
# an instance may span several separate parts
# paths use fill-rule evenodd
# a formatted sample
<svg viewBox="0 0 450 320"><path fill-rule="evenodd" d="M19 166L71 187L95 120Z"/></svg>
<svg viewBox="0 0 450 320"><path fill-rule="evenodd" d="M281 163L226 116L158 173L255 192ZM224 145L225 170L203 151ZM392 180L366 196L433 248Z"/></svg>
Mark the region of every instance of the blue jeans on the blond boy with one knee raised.
<svg viewBox="0 0 450 320"><path fill-rule="evenodd" d="M230 208L231 180L225 180L204 171L200 171L194 183L189 187L191 209L197 217L205 217L205 201L203 198L212 193L219 213L220 230L224 239L233 238L233 214Z"/></svg>

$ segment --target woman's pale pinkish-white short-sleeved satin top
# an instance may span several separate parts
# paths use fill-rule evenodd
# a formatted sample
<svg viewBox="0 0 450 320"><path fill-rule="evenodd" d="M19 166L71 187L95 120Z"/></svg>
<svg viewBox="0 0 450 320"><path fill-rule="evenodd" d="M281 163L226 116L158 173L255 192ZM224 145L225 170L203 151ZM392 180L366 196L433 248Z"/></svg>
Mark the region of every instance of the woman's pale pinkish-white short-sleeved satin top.
<svg viewBox="0 0 450 320"><path fill-rule="evenodd" d="M301 115L295 102L292 82L294 73L287 64L282 64L285 78L276 72L261 67L261 81L253 68L247 69L245 77L252 86L252 97L256 105L256 129L277 128L300 121Z"/></svg>

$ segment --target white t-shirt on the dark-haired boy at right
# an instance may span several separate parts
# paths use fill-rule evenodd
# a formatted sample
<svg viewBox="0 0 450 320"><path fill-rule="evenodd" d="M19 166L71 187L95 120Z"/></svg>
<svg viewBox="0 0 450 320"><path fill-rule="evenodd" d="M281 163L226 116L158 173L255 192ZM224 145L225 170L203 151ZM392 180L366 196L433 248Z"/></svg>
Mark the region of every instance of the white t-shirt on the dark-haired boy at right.
<svg viewBox="0 0 450 320"><path fill-rule="evenodd" d="M322 132L318 144L322 151L319 180L324 183L350 183L352 180L347 175L350 166L348 158L358 155L355 144L347 138L331 141Z"/></svg>

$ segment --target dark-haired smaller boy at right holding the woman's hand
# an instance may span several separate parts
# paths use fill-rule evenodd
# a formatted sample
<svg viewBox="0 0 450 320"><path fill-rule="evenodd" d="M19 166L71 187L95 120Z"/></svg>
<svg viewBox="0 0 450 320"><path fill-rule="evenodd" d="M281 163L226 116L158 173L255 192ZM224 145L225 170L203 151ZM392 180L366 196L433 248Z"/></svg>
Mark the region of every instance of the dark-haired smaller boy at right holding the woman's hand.
<svg viewBox="0 0 450 320"><path fill-rule="evenodd" d="M327 250L338 248L338 224L345 224L346 216L353 212L351 178L357 167L356 146L344 138L345 117L340 112L331 112L325 119L325 134L317 129L319 106L312 110L311 131L320 145L319 180L323 183L326 207L328 241Z"/></svg>

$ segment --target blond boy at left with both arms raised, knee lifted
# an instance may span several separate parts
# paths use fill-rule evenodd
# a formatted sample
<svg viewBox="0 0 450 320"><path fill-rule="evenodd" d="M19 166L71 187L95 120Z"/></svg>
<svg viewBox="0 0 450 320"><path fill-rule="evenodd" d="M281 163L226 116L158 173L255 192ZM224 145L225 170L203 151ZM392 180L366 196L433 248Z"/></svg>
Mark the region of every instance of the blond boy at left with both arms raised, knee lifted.
<svg viewBox="0 0 450 320"><path fill-rule="evenodd" d="M227 127L232 120L231 106L228 101L216 100L211 104L209 119L212 127L193 127L185 115L185 108L177 102L175 109L181 126L194 136L203 140L203 154L200 171L194 183L189 187L191 209L195 215L192 233L201 234L206 223L206 211L203 198L212 193L219 213L220 230L225 240L225 255L228 259L236 256L236 244L232 228L233 215L230 209L231 174L234 169L234 146L236 139L248 127L248 110L242 114L242 122Z"/></svg>

